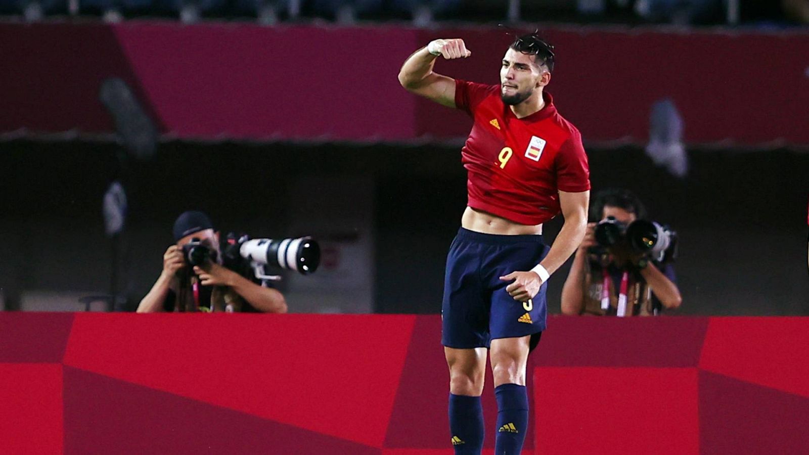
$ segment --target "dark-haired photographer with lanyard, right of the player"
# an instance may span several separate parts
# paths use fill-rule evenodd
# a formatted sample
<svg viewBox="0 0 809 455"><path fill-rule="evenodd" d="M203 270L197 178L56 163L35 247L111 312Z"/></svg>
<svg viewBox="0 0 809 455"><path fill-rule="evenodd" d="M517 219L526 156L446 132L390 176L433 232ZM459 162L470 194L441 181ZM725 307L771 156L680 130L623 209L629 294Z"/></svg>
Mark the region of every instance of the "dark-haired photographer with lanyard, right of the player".
<svg viewBox="0 0 809 455"><path fill-rule="evenodd" d="M658 314L661 306L678 308L682 297L674 283L671 266L676 240L671 241L662 255L650 257L649 253L631 247L624 235L631 223L646 219L646 209L640 199L629 190L604 190L596 194L590 214L591 220L601 222L587 224L587 233L576 250L562 288L562 313L650 316ZM613 235L617 239L612 245L603 245L610 243L607 240L600 244L596 240L599 224L605 224L602 228L612 228L612 231L602 229L602 232L621 232L621 235ZM648 223L648 226L653 224Z"/></svg>

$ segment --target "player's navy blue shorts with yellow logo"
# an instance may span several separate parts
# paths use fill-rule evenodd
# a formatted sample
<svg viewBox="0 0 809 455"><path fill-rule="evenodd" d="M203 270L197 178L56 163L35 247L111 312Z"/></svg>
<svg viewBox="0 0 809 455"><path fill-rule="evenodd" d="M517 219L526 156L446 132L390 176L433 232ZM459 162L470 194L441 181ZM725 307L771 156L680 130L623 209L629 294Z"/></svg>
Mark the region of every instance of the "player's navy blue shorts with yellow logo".
<svg viewBox="0 0 809 455"><path fill-rule="evenodd" d="M548 250L542 236L498 236L460 228L447 255L441 344L459 349L489 347L495 338L536 334L532 348L536 346L545 330L548 283L523 303L506 292L513 280L500 277L531 270Z"/></svg>

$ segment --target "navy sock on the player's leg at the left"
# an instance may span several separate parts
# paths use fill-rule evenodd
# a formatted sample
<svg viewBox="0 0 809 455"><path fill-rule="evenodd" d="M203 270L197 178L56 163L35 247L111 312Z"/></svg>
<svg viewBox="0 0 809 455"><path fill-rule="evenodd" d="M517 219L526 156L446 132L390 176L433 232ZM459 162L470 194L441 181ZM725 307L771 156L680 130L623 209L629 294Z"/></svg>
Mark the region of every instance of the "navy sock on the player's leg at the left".
<svg viewBox="0 0 809 455"><path fill-rule="evenodd" d="M485 427L480 397L450 393L450 432L455 455L481 454Z"/></svg>

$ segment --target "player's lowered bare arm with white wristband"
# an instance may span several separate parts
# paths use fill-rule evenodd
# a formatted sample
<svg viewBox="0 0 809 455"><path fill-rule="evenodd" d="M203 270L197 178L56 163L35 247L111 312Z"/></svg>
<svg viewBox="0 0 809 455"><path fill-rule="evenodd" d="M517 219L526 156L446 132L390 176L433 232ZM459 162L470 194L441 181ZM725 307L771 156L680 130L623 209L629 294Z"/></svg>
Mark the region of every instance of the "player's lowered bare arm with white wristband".
<svg viewBox="0 0 809 455"><path fill-rule="evenodd" d="M511 272L500 277L504 281L514 280L514 283L506 287L510 296L521 302L534 298L543 283L540 271L538 271L540 267L547 270L550 276L576 251L578 245L582 243L584 232L587 231L587 206L589 203L589 190L580 193L559 192L559 205L561 213L565 217L565 223L562 224L559 235L553 240L548 256L537 267L528 271Z"/></svg>

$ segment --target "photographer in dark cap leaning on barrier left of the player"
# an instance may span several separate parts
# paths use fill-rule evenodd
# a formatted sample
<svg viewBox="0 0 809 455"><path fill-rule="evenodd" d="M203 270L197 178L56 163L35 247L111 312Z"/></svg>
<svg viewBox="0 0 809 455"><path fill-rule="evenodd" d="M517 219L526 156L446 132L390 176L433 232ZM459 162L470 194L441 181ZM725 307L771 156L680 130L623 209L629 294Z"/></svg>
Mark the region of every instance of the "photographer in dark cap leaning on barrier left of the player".
<svg viewBox="0 0 809 455"><path fill-rule="evenodd" d="M176 245L163 254L163 272L138 305L138 313L160 311L235 311L286 313L281 292L262 287L222 266L219 233L207 215L186 211L174 223ZM190 247L209 255L201 266L190 266ZM185 247L185 250L184 250Z"/></svg>

